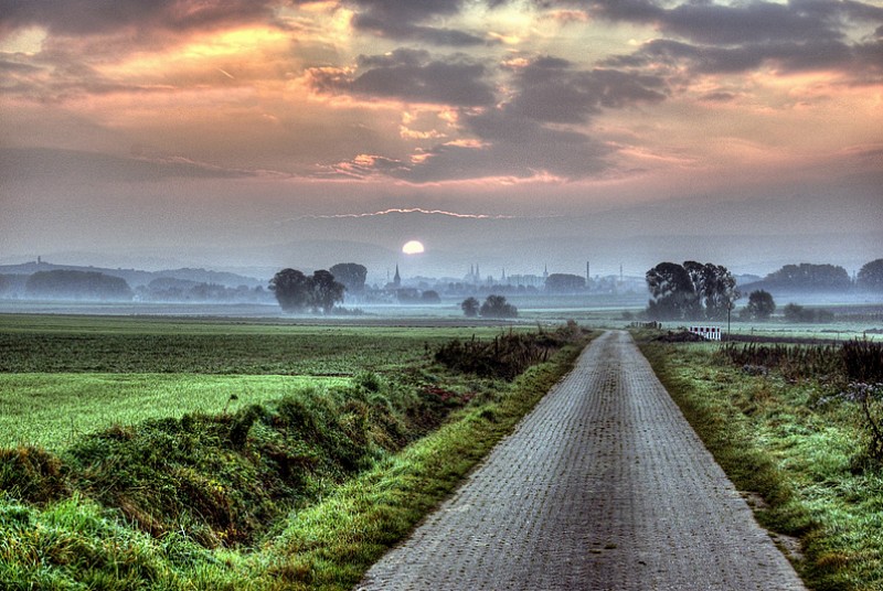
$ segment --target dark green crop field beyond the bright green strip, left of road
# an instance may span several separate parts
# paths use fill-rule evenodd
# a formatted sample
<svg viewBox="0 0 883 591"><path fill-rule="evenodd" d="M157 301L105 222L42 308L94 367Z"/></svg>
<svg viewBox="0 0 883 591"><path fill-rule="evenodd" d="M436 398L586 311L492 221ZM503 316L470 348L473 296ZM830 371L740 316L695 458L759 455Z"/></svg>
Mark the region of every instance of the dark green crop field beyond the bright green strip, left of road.
<svg viewBox="0 0 883 591"><path fill-rule="evenodd" d="M0 314L0 373L345 376L395 370L450 339L493 339L499 333L498 326L317 326Z"/></svg>

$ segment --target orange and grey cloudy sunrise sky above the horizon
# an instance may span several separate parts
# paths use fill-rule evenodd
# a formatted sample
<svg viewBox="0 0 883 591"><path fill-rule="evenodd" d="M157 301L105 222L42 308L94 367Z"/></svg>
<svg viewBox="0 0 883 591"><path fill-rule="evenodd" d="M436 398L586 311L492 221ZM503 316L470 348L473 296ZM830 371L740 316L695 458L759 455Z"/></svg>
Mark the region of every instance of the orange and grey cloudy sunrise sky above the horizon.
<svg viewBox="0 0 883 591"><path fill-rule="evenodd" d="M881 187L883 1L0 0L0 262L854 272Z"/></svg>

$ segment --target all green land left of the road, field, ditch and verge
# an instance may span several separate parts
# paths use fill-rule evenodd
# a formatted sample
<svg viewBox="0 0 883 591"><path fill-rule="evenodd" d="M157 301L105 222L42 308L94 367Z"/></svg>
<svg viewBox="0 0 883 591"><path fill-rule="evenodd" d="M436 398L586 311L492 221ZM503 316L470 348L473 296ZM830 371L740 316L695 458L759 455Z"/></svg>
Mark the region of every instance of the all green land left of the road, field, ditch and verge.
<svg viewBox="0 0 883 591"><path fill-rule="evenodd" d="M0 315L0 588L350 589L585 342L355 324Z"/></svg>

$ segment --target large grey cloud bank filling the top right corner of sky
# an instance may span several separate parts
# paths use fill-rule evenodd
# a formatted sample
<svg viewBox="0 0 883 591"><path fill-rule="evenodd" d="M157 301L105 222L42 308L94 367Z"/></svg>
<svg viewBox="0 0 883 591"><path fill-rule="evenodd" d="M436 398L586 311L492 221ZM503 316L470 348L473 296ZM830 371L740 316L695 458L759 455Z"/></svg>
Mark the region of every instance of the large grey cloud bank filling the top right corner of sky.
<svg viewBox="0 0 883 591"><path fill-rule="evenodd" d="M663 8L649 0L592 2L595 15L653 24L663 33L610 67L638 67L682 77L735 74L768 66L779 74L837 72L855 84L883 80L883 8L855 1L791 0L787 4L688 2ZM868 32L876 29L876 39ZM863 37L860 41L858 37Z"/></svg>

